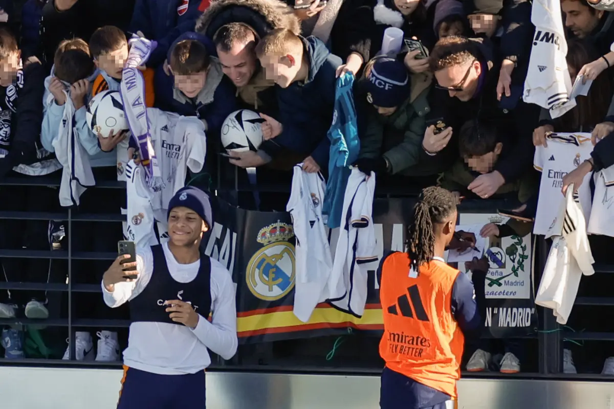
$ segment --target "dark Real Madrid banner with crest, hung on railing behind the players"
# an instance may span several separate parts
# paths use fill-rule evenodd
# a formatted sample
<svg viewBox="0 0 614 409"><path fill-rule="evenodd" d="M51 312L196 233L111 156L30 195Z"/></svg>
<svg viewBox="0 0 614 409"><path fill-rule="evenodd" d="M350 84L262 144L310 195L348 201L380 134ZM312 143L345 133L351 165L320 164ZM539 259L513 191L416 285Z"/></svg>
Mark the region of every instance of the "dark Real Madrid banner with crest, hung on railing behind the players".
<svg viewBox="0 0 614 409"><path fill-rule="evenodd" d="M378 260L367 265L367 301L362 317L322 302L306 323L293 313L294 289L301 284L295 280L295 237L289 213L244 210L216 197L212 197L212 205L216 221L202 245L206 254L232 273L240 343L343 335L350 330L381 336L383 318L376 270L384 254L405 249L405 229L413 207L411 199L376 199L373 204ZM461 211L459 224L486 224L491 219L505 223L492 213ZM333 229L330 236L334 248L338 229ZM492 242L487 249L491 250L487 256L495 255L483 285L487 307L484 329L491 337L527 335L537 322L530 243L530 235L512 236ZM464 266L459 268L464 273Z"/></svg>

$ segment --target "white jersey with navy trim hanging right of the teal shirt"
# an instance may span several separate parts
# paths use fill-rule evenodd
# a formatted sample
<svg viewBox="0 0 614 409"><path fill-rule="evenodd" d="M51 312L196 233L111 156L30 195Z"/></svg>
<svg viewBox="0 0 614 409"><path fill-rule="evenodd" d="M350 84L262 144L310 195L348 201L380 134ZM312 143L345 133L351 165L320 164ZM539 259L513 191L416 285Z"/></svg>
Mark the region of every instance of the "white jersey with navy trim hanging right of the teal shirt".
<svg viewBox="0 0 614 409"><path fill-rule="evenodd" d="M375 173L367 176L357 168L348 179L339 239L328 280L331 304L361 317L367 302L367 265L377 261L373 212Z"/></svg>

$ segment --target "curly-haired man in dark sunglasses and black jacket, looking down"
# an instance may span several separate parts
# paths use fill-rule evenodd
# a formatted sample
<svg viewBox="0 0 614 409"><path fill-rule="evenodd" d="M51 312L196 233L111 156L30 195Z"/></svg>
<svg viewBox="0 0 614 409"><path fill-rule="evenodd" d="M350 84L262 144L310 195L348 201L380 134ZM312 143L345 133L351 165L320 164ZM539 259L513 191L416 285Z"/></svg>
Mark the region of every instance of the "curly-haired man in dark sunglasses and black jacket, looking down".
<svg viewBox="0 0 614 409"><path fill-rule="evenodd" d="M504 183L518 180L532 167L532 132L537 124L537 105L522 101L522 86L511 86L510 96L497 98L500 64L486 39L445 37L430 54L430 69L437 80L430 106L432 115L444 119L454 133L465 121L484 118L499 123L510 156L497 162L492 172L477 177L468 189L478 197L491 197ZM438 111L438 112L437 112ZM437 144L437 136L425 135L423 147ZM435 141L435 143L433 143ZM449 143L449 142L448 142ZM437 150L430 154L437 155Z"/></svg>

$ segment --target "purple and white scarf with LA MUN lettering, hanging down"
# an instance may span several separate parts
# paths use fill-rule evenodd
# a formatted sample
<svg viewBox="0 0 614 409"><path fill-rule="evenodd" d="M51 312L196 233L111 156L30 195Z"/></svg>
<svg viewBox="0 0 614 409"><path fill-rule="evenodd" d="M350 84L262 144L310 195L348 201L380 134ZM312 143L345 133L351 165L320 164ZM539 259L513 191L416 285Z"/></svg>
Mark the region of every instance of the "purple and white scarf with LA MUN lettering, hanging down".
<svg viewBox="0 0 614 409"><path fill-rule="evenodd" d="M138 69L147 62L154 48L155 41L133 36L130 41L130 53L122 71L121 94L123 110L128 118L132 137L136 139L141 150L141 164L147 175L147 185L154 192L164 188L165 183L160 172L158 159L153 151L147 107L145 105L145 80Z"/></svg>

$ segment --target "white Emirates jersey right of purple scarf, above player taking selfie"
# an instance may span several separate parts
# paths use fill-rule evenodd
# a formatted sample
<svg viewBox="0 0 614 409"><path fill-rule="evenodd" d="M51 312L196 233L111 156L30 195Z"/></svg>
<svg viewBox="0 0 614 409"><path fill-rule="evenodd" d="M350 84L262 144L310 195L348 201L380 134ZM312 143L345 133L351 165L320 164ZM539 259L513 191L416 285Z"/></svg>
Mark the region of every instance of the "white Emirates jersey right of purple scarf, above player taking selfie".
<svg viewBox="0 0 614 409"><path fill-rule="evenodd" d="M156 220L166 223L173 195L185 185L187 168L200 172L206 155L204 124L196 117L182 117L156 108L147 109L152 143L165 187L154 193L151 204Z"/></svg>

